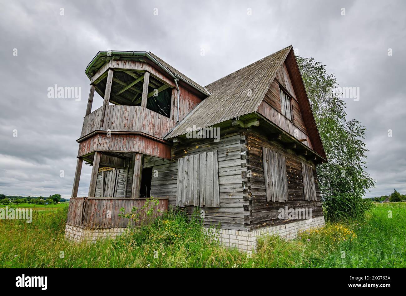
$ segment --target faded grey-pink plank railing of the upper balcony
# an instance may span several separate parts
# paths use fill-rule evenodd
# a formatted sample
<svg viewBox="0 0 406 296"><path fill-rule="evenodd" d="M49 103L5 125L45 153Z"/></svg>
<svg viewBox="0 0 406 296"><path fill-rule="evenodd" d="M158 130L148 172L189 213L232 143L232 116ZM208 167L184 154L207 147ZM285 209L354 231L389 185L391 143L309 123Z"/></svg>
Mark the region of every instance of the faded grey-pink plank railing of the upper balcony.
<svg viewBox="0 0 406 296"><path fill-rule="evenodd" d="M143 132L163 138L175 125L174 120L142 106L107 105L104 118L103 107L84 117L80 137L95 130L112 130Z"/></svg>

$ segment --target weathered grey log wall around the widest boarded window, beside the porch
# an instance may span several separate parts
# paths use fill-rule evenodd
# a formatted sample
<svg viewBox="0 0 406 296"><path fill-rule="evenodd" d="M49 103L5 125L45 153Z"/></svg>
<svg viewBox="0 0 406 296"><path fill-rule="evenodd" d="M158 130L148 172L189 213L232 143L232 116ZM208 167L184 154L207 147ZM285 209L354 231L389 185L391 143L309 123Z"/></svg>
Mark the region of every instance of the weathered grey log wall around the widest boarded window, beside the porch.
<svg viewBox="0 0 406 296"><path fill-rule="evenodd" d="M243 183L246 183L246 160L242 151L246 150L245 134L237 128L220 129L220 141L213 139L185 139L184 143L175 143L172 147L172 159L164 160L152 156L144 158L143 167L152 167L158 177L152 177L151 196L168 198L169 207L176 207L178 159L185 155L194 155L204 151L218 151L218 179L220 207L201 207L205 211L204 224L218 225L220 228L247 230L248 198L244 198ZM153 175L154 176L154 175ZM191 215L196 207L186 206Z"/></svg>

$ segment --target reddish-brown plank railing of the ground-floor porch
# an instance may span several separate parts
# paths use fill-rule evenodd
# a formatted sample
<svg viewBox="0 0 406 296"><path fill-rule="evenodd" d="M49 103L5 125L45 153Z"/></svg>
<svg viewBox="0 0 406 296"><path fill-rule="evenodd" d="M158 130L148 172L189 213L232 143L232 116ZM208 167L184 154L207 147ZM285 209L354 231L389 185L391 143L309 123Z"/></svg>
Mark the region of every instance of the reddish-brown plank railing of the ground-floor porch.
<svg viewBox="0 0 406 296"><path fill-rule="evenodd" d="M133 207L141 209L145 202L146 198L73 197L69 201L66 223L82 228L126 228L129 222L132 226L149 224L168 209L168 199L160 198L152 215L147 216L144 211L138 221L119 216L121 208L124 213L130 213Z"/></svg>

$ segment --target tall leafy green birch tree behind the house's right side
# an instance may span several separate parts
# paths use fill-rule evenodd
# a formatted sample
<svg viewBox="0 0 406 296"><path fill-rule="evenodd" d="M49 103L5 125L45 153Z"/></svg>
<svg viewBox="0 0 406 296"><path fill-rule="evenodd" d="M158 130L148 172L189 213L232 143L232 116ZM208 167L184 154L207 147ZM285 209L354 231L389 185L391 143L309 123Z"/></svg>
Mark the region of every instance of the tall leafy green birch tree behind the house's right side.
<svg viewBox="0 0 406 296"><path fill-rule="evenodd" d="M328 159L327 163L317 166L322 199L330 199L330 213L335 212L340 217L346 217L347 213L354 215L355 209L367 209L361 197L375 185L364 170L368 151L363 141L366 128L356 119L346 120L345 102L328 92L338 84L335 77L327 73L325 65L313 58L298 56L296 59ZM346 203L352 204L353 209L339 212L339 209L344 210L340 205ZM339 208L333 210L335 205Z"/></svg>

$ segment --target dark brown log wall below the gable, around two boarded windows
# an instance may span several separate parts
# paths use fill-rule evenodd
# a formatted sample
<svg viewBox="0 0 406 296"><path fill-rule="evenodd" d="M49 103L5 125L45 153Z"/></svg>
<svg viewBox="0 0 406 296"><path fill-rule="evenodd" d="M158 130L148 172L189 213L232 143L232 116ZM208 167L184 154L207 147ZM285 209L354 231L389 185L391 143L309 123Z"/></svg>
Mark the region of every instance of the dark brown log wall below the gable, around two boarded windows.
<svg viewBox="0 0 406 296"><path fill-rule="evenodd" d="M303 183L302 183L302 166L301 163L314 164L308 162L302 156L296 155L293 151L284 149L275 142L269 142L264 136L259 134L259 129L247 131L247 170L251 170L252 176L248 179L248 190L251 194L249 201L249 218L251 221L250 228L277 226L297 220L278 219L279 209L312 209L312 217L323 215L320 201L320 190L317 183L316 171L313 170L315 179L317 201L304 200ZM285 155L286 172L288 181L288 200L287 202L267 202L265 190L265 178L263 172L262 148L268 147Z"/></svg>

